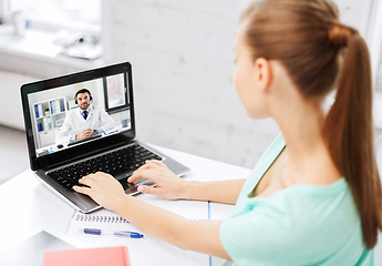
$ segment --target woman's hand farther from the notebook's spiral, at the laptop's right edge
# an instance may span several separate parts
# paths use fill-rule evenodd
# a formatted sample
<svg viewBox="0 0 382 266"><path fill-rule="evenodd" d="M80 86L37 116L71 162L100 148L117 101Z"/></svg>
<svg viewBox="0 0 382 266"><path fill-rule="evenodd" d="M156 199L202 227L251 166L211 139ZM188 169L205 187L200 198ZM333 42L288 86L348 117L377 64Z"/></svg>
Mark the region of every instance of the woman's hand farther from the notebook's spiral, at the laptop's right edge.
<svg viewBox="0 0 382 266"><path fill-rule="evenodd" d="M175 175L167 166L156 160L146 161L130 178L130 183L134 183L138 178L147 178L154 182L157 187L140 185L138 192L152 194L167 200L184 198L186 182Z"/></svg>

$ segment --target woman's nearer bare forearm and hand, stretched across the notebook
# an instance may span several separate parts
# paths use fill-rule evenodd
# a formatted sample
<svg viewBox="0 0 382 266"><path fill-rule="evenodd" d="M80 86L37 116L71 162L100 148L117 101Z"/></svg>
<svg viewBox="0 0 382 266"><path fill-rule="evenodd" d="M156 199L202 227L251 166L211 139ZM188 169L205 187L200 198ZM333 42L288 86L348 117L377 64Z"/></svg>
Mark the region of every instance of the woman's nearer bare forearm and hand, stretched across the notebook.
<svg viewBox="0 0 382 266"><path fill-rule="evenodd" d="M80 183L89 187L74 186L76 192L91 196L100 205L120 214L143 232L182 249L229 259L219 237L221 221L188 221L144 203L126 195L120 182L105 173L87 175L81 178Z"/></svg>

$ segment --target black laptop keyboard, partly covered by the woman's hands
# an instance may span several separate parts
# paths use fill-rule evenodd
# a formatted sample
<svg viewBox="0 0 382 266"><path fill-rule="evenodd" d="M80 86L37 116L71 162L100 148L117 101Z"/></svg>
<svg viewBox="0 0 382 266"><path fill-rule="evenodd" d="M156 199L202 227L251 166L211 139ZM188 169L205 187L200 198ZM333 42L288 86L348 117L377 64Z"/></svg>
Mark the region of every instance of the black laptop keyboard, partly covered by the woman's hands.
<svg viewBox="0 0 382 266"><path fill-rule="evenodd" d="M138 144L134 144L47 174L65 188L72 190L73 185L79 185L79 180L85 175L95 172L104 172L113 176L132 173L144 165L146 160L162 160L162 157Z"/></svg>

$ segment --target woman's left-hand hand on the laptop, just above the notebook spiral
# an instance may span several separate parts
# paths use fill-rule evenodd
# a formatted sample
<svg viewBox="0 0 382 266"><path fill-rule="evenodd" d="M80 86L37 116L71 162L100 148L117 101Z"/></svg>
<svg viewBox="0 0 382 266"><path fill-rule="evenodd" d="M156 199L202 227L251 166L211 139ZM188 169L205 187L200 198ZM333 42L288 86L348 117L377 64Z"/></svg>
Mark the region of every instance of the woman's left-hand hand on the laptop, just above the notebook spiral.
<svg viewBox="0 0 382 266"><path fill-rule="evenodd" d="M73 186L75 192L89 195L94 202L113 212L117 212L126 196L120 182L112 175L102 172L86 175L79 183L89 187Z"/></svg>

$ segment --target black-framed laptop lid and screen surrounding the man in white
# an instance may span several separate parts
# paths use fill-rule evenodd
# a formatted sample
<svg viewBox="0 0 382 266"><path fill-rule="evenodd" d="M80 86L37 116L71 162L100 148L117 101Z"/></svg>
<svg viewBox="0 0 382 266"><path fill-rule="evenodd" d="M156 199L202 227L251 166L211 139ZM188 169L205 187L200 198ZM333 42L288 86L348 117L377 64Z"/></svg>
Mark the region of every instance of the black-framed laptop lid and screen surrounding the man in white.
<svg viewBox="0 0 382 266"><path fill-rule="evenodd" d="M60 131L66 129L69 114L81 113L74 99L81 89L91 92L91 106L105 111L115 122L114 126L82 142L59 140ZM33 171L125 145L135 137L132 66L128 62L24 84L21 100Z"/></svg>

